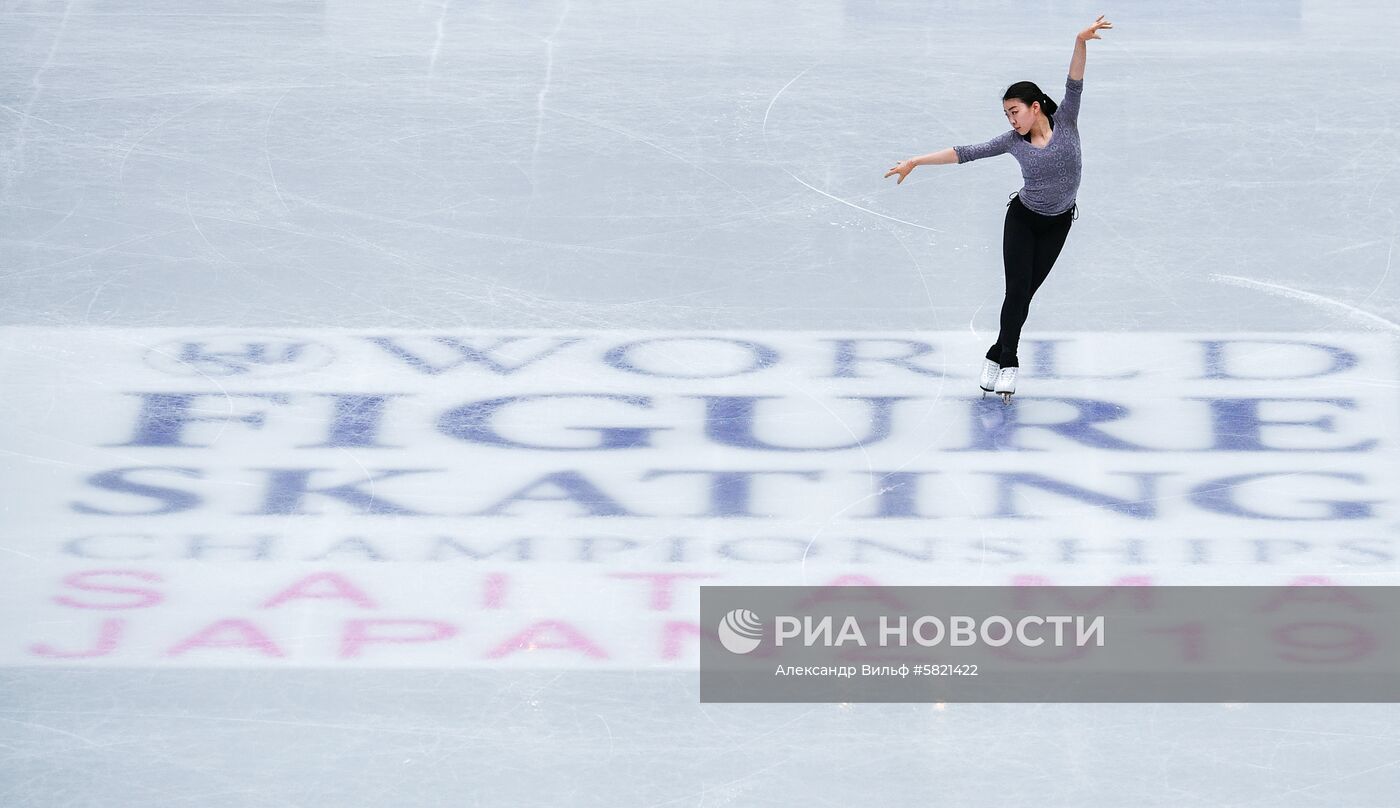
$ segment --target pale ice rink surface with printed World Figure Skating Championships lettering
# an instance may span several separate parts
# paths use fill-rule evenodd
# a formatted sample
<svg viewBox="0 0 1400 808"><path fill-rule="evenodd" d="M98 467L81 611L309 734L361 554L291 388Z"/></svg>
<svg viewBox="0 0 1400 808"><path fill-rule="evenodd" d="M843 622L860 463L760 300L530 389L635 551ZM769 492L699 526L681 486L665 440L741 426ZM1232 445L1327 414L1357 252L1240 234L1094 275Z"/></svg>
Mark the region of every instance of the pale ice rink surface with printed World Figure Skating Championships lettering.
<svg viewBox="0 0 1400 808"><path fill-rule="evenodd" d="M1098 14L988 408L1015 161L882 175L1058 99ZM0 805L1396 805L1393 704L701 704L687 620L1400 583L1397 35L0 0Z"/></svg>

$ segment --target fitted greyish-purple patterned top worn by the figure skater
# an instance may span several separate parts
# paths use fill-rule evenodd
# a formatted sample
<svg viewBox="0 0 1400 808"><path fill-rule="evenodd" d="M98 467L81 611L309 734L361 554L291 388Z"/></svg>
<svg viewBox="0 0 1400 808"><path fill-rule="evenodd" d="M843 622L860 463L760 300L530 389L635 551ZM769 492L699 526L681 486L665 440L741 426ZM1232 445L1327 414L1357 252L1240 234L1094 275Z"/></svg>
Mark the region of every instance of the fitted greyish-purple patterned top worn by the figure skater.
<svg viewBox="0 0 1400 808"><path fill-rule="evenodd" d="M1021 202L1030 210L1044 216L1058 216L1074 206L1079 192L1079 175L1084 160L1079 151L1079 95L1084 94L1084 80L1065 78L1064 101L1056 108L1053 134L1044 148L1030 146L1029 140L1008 129L987 143L976 146L955 146L958 162L972 162L983 157L1011 153L1021 164Z"/></svg>

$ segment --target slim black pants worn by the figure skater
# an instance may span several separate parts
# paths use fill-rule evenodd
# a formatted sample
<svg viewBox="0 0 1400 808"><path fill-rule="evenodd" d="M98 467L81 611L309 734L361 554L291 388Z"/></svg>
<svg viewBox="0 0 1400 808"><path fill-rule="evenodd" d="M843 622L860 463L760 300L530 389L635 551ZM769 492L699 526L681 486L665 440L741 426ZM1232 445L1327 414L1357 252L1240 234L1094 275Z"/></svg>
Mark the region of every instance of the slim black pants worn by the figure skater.
<svg viewBox="0 0 1400 808"><path fill-rule="evenodd" d="M1001 234L1001 259L1007 266L1007 300L1001 304L1001 332L987 358L1001 367L1021 367L1016 344L1021 326L1030 314L1030 298L1046 281L1054 259L1060 258L1064 239L1078 206L1060 216L1042 216L1014 195L1007 203L1007 225Z"/></svg>

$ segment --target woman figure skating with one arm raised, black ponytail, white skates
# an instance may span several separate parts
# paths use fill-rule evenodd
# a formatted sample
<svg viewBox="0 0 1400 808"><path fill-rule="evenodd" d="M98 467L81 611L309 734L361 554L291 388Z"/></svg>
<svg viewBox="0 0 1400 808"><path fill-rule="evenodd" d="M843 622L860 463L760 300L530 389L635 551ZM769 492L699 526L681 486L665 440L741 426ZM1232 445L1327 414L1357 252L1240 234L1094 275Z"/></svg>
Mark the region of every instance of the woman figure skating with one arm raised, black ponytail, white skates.
<svg viewBox="0 0 1400 808"><path fill-rule="evenodd" d="M902 161L886 178L899 175L904 182L918 165L970 162L983 157L1011 153L1021 164L1025 185L1007 204L1007 223L1001 235L1001 259L1007 270L1007 297L1001 304L1001 330L987 350L981 367L981 389L1001 393L1011 402L1016 392L1016 344L1021 326L1030 311L1030 298L1054 266L1070 224L1075 218L1075 195L1079 190L1079 95L1084 92L1084 63L1089 39L1102 39L1099 31L1113 28L1102 15L1075 38L1064 101L1058 105L1029 81L1018 81L1002 95L1002 109L1011 130L976 146L958 146Z"/></svg>

